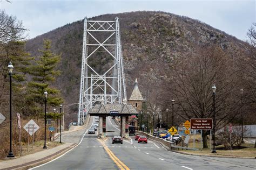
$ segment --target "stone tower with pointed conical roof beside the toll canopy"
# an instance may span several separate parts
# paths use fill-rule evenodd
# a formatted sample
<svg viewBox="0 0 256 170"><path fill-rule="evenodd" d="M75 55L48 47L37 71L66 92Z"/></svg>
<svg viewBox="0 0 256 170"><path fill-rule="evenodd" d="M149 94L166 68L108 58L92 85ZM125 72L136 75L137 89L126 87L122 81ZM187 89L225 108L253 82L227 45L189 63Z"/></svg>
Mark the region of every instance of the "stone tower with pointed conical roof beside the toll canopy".
<svg viewBox="0 0 256 170"><path fill-rule="evenodd" d="M132 106L138 111L142 111L142 105L144 102L144 98L142 97L142 94L139 91L138 87L138 81L137 79L134 82L134 88L132 90L132 94L128 100L129 104L132 104ZM138 130L138 118L135 115L132 115L129 117L129 124L131 126L135 126L136 130Z"/></svg>

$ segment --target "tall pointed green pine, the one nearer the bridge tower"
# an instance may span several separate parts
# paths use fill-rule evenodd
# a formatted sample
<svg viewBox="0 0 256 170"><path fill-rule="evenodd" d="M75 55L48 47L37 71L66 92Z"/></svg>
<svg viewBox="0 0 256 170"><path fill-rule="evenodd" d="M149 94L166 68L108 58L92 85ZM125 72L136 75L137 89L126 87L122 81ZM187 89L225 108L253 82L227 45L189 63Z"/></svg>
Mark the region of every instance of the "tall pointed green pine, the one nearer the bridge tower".
<svg viewBox="0 0 256 170"><path fill-rule="evenodd" d="M44 40L42 50L39 50L42 56L36 61L36 65L30 67L30 74L32 81L29 82L29 96L28 102L31 104L31 111L33 115L39 118L40 113L43 112L44 91L48 92L47 103L52 107L63 102L59 95L59 90L51 87L51 83L55 81L55 77L60 75L60 71L56 70L57 64L60 62L60 54L56 55L51 51L51 41Z"/></svg>

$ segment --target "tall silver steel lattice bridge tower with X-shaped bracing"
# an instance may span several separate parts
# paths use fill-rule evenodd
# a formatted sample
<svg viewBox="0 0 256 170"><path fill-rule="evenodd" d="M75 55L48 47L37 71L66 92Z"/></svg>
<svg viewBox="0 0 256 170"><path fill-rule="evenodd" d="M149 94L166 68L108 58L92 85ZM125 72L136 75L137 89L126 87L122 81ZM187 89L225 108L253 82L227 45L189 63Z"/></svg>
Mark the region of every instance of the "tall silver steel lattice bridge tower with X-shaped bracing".
<svg viewBox="0 0 256 170"><path fill-rule="evenodd" d="M102 53L104 55L100 55ZM108 68L103 68L106 65ZM127 102L119 18L114 21L84 19L79 125L98 101Z"/></svg>

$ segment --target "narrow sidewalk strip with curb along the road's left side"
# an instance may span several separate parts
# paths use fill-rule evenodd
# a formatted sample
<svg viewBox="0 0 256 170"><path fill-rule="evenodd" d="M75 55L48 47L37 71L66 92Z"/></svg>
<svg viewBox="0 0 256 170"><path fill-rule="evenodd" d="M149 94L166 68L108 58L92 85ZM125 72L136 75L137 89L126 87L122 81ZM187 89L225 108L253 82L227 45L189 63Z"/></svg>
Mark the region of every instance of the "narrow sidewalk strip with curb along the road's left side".
<svg viewBox="0 0 256 170"><path fill-rule="evenodd" d="M76 147L78 144L73 143L72 145L63 148L60 151L57 151L55 153L52 153L44 158L38 159L38 160L34 160L31 162L26 162L24 164L21 165L16 165L16 166L12 166L12 167L8 167L8 168L4 168L4 169L28 169L28 168L32 168L32 167L36 167L38 165L44 164L46 162L49 162L57 157L59 157L60 155L68 152L69 150L71 150L72 148Z"/></svg>

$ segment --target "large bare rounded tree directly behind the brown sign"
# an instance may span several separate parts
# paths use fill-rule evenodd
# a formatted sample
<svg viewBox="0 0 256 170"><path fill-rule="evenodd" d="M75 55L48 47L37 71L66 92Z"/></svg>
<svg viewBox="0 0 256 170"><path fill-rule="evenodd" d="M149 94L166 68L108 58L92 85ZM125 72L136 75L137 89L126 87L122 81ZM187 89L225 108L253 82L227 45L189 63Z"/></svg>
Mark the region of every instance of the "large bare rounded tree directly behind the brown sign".
<svg viewBox="0 0 256 170"><path fill-rule="evenodd" d="M235 116L235 86L233 60L217 46L198 47L192 54L181 57L172 70L169 90L176 100L176 113L183 119L213 118L212 86L215 96L216 125L220 127ZM169 99L168 103L171 103ZM203 145L207 148L207 134Z"/></svg>

